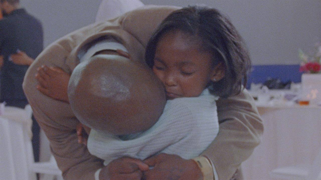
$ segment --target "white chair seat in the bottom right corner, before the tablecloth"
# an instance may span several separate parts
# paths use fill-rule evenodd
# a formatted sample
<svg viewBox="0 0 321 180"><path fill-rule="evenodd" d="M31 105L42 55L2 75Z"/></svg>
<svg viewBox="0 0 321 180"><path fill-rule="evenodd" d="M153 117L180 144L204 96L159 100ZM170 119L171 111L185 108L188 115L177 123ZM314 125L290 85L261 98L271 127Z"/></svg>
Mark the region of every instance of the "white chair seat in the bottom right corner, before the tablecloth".
<svg viewBox="0 0 321 180"><path fill-rule="evenodd" d="M321 180L321 150L308 166L300 164L273 169L270 176L287 180Z"/></svg>

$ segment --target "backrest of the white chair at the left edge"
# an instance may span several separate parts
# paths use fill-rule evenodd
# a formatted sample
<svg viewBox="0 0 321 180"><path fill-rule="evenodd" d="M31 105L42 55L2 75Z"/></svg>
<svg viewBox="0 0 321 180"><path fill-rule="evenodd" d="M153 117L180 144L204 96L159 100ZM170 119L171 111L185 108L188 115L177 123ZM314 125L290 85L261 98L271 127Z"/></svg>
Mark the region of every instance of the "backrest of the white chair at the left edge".
<svg viewBox="0 0 321 180"><path fill-rule="evenodd" d="M36 174L28 170L33 155L24 120L0 116L0 180L36 180Z"/></svg>

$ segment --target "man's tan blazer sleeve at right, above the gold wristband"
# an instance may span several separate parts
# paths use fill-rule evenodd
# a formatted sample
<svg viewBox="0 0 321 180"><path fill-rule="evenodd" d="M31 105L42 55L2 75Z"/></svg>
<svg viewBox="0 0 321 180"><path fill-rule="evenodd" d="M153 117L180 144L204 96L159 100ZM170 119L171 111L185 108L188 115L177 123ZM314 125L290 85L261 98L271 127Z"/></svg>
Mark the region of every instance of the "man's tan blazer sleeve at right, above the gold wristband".
<svg viewBox="0 0 321 180"><path fill-rule="evenodd" d="M219 180L230 180L260 143L262 119L252 96L240 94L217 101L219 133L202 153L213 161Z"/></svg>

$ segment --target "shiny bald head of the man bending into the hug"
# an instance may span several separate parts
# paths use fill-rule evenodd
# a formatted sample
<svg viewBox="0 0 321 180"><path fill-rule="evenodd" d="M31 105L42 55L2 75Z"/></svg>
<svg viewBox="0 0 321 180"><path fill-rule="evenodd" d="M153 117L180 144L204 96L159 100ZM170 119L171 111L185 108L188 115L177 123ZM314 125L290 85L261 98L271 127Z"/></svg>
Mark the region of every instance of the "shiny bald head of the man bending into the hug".
<svg viewBox="0 0 321 180"><path fill-rule="evenodd" d="M68 97L83 124L114 135L147 130L165 105L163 86L147 65L107 54L74 69Z"/></svg>

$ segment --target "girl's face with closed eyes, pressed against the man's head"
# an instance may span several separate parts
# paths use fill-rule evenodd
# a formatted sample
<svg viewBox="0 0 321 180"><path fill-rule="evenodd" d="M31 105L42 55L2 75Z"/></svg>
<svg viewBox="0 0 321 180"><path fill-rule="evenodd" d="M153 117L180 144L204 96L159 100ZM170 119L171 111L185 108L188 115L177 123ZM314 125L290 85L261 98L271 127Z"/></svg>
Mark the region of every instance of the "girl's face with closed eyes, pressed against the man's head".
<svg viewBox="0 0 321 180"><path fill-rule="evenodd" d="M157 44L152 70L164 84L167 99L195 97L215 75L211 58L185 33L169 32Z"/></svg>

